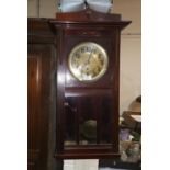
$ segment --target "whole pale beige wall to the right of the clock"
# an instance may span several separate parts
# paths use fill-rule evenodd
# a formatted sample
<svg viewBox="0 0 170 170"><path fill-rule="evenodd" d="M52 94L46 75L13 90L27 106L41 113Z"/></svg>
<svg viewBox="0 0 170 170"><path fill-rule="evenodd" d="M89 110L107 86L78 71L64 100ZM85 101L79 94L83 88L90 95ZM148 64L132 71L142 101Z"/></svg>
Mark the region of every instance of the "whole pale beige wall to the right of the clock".
<svg viewBox="0 0 170 170"><path fill-rule="evenodd" d="M141 94L141 0L114 0L114 13L131 20L121 36L120 113Z"/></svg>

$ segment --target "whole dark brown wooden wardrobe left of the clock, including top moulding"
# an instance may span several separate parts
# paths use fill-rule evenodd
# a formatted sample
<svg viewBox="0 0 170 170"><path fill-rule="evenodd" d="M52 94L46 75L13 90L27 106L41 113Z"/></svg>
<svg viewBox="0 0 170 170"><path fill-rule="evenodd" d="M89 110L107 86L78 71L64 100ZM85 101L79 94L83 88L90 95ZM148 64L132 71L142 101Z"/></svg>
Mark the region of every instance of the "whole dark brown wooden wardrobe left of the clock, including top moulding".
<svg viewBox="0 0 170 170"><path fill-rule="evenodd" d="M55 169L56 46L46 19L27 21L27 165Z"/></svg>

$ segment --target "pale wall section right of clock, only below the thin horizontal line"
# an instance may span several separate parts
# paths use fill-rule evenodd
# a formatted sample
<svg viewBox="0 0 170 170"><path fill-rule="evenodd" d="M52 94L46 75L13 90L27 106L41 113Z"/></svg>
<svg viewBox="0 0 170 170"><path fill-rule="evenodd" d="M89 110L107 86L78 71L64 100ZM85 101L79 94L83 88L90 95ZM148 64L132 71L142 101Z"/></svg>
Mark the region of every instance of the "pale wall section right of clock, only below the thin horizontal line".
<svg viewBox="0 0 170 170"><path fill-rule="evenodd" d="M140 35L123 35L121 43L120 113L141 93Z"/></svg>

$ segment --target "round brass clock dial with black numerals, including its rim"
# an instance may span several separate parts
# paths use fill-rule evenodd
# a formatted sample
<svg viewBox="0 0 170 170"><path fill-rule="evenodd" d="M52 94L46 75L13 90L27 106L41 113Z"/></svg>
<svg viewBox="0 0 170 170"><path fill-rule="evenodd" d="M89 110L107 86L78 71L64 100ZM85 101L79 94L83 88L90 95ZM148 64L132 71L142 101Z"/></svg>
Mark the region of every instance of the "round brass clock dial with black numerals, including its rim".
<svg viewBox="0 0 170 170"><path fill-rule="evenodd" d="M95 43L84 42L69 54L69 70L79 81L95 81L106 71L109 57L105 49Z"/></svg>

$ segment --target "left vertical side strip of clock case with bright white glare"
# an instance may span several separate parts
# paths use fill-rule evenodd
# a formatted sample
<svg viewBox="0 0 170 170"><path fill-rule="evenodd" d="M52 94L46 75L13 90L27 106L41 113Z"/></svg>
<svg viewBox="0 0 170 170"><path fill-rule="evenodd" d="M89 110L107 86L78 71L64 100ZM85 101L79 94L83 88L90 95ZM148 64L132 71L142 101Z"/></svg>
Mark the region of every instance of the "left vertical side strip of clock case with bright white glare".
<svg viewBox="0 0 170 170"><path fill-rule="evenodd" d="M64 42L64 31L57 29L57 69L56 69L56 89L57 89L57 101L56 101L56 152L61 154L64 151L64 127L65 127L65 116L64 116L64 104L65 104L65 69L63 61L63 46Z"/></svg>

